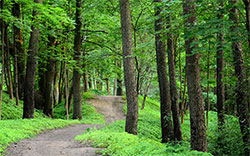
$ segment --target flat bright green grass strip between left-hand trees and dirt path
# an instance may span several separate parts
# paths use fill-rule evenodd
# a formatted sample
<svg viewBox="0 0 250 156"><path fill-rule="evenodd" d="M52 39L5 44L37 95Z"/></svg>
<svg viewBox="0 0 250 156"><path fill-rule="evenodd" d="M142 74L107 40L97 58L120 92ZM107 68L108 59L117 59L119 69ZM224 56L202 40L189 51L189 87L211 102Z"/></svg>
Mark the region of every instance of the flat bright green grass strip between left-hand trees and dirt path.
<svg viewBox="0 0 250 156"><path fill-rule="evenodd" d="M4 149L13 142L34 137L36 134L54 128L80 123L79 121L66 121L61 119L17 119L0 121L0 156Z"/></svg>

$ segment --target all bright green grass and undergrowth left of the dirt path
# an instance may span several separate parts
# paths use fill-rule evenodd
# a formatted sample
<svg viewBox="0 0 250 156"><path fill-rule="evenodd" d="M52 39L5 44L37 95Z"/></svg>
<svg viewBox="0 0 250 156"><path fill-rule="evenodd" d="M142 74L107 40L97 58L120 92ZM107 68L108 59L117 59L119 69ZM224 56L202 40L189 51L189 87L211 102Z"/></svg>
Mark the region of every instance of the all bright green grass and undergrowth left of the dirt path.
<svg viewBox="0 0 250 156"><path fill-rule="evenodd" d="M46 118L41 111L35 110L35 119L22 119L23 101L20 106L15 105L15 101L10 100L7 94L3 94L2 101L2 120L0 120L0 156L10 143L22 139L34 137L36 134L54 129L62 128L71 124L105 124L103 115L96 112L93 106L85 101L94 98L93 93L83 95L83 120L63 120L65 117L64 104L57 105L54 109L56 118ZM70 114L70 117L72 113ZM61 118L61 119L60 119Z"/></svg>

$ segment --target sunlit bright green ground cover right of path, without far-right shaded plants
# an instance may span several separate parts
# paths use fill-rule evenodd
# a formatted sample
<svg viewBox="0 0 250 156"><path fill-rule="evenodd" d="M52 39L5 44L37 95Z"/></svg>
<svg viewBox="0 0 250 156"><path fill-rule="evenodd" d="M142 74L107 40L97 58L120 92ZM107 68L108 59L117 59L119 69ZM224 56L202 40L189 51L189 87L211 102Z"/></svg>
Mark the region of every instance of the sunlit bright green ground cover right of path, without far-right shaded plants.
<svg viewBox="0 0 250 156"><path fill-rule="evenodd" d="M140 104L142 97L139 97ZM189 143L183 146L160 143L160 114L159 103L148 99L145 109L139 112L138 136L124 132L125 122L117 121L101 130L92 129L76 140L89 140L94 146L107 148L105 154L115 156L165 156L165 155L211 155L197 151L190 151ZM190 130L189 130L190 131Z"/></svg>

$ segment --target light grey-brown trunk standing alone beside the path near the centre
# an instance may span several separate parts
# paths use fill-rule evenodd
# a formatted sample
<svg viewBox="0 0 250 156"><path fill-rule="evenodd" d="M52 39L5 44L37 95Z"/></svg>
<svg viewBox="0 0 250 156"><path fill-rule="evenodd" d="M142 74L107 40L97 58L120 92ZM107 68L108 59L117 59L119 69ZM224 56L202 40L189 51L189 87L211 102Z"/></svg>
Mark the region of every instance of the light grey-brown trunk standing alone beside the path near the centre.
<svg viewBox="0 0 250 156"><path fill-rule="evenodd" d="M134 74L134 58L131 57L133 55L133 41L129 0L120 0L120 13L124 80L127 95L126 132L136 135L138 123L138 95Z"/></svg>

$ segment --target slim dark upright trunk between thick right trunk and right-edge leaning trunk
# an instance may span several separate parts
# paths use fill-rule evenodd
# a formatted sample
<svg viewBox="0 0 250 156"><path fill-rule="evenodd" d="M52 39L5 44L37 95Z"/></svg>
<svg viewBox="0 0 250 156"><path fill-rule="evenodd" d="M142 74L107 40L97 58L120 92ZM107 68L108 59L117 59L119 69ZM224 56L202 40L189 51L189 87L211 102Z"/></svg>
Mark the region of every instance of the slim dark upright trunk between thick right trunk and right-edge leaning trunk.
<svg viewBox="0 0 250 156"><path fill-rule="evenodd" d="M220 0L220 6L221 8L224 7L224 2L223 0ZM219 14L217 15L218 19L220 19L221 21L223 21L223 12L220 10ZM225 91L224 91L224 83L223 83L223 78L224 78L224 74L223 74L223 70L224 70L224 50L223 50L223 43L224 43L224 32L223 32L223 24L220 24L219 28L220 28L220 32L217 35L217 39L219 42L219 45L217 47L217 58L216 58L216 62L217 62L217 78L216 78L216 82L217 82L217 90L216 90L216 94L217 94L217 115L218 115L218 127L219 129L221 129L221 127L223 126L223 124L225 123L225 116L224 116L224 100L225 100Z"/></svg>

